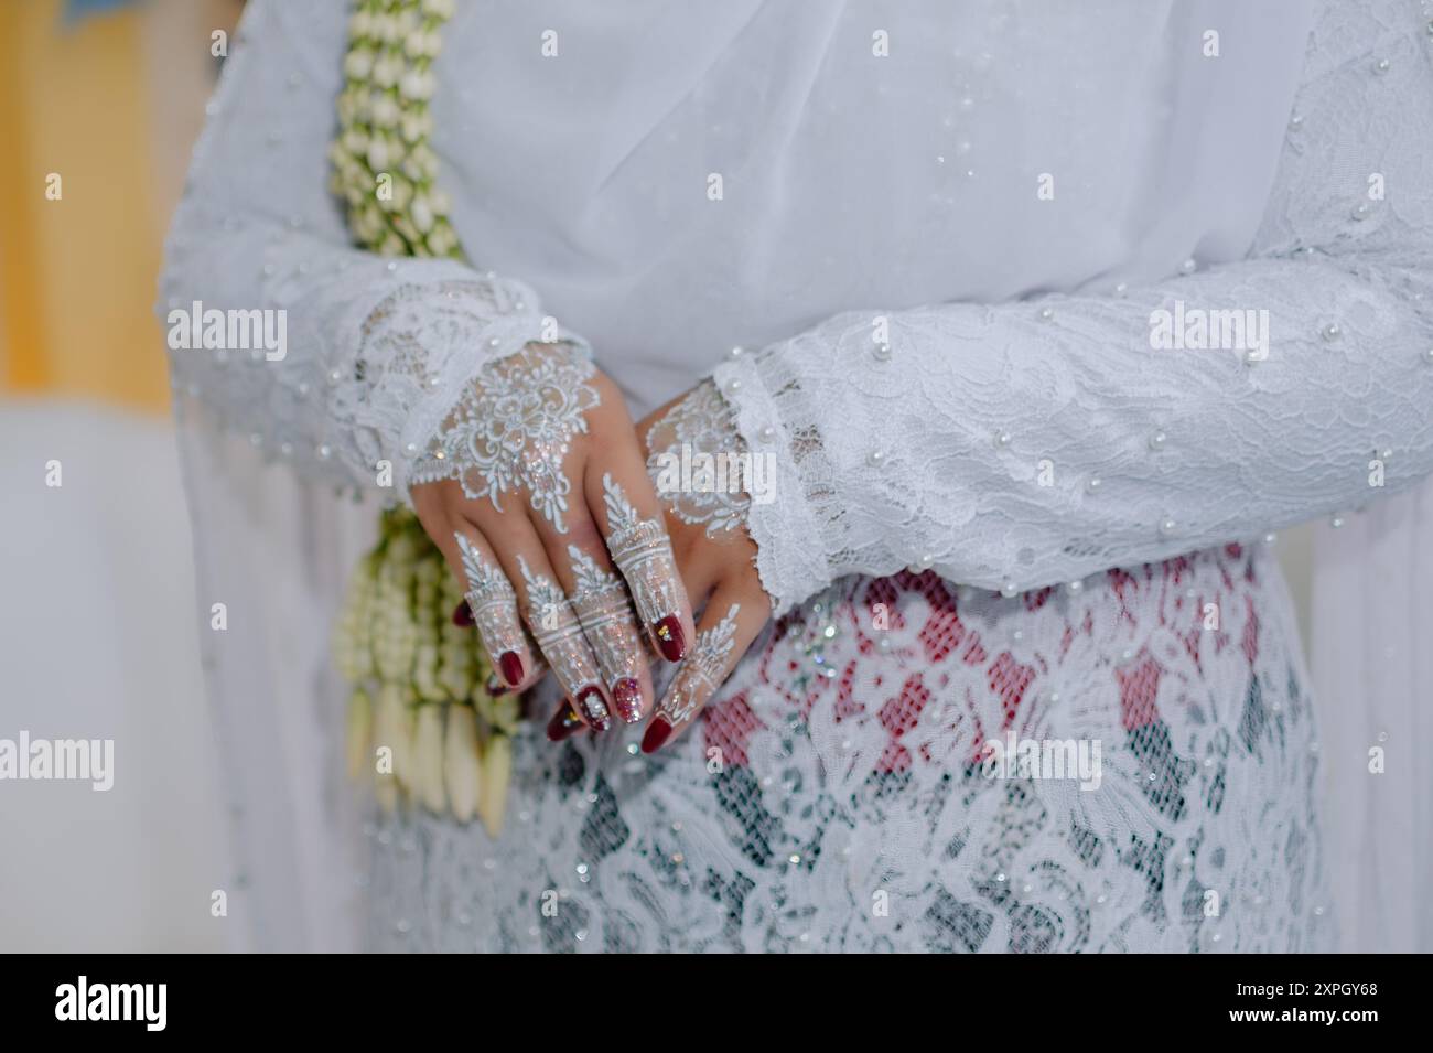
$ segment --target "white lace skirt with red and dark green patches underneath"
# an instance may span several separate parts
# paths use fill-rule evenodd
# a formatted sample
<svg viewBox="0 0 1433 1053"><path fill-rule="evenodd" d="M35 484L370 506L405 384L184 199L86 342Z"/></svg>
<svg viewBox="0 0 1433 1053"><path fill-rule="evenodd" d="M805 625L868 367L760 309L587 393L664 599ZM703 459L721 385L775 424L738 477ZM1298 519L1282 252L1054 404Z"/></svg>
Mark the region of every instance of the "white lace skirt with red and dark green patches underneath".
<svg viewBox="0 0 1433 1053"><path fill-rule="evenodd" d="M1015 599L853 579L768 628L684 738L636 741L535 722L497 841L374 819L370 947L1333 946L1307 676L1262 546Z"/></svg>

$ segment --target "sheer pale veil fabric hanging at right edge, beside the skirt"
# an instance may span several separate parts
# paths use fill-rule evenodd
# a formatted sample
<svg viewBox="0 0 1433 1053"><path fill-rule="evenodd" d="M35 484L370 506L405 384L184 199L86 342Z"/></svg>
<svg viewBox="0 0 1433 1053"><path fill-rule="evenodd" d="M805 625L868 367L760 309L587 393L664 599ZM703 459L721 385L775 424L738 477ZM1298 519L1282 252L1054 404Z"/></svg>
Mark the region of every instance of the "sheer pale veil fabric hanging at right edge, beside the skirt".
<svg viewBox="0 0 1433 1053"><path fill-rule="evenodd" d="M1308 642L1346 951L1429 953L1433 480L1320 527ZM1374 774L1373 751L1384 768Z"/></svg>

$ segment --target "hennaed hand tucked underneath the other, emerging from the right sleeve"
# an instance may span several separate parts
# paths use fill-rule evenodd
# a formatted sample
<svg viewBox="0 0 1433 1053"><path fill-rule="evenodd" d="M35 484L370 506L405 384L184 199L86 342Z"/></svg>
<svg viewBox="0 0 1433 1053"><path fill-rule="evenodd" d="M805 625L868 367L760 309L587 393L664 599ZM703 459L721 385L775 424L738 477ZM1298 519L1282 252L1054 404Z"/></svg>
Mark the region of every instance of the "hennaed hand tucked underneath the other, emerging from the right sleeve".
<svg viewBox="0 0 1433 1053"><path fill-rule="evenodd" d="M658 408L636 431L646 447L676 570L692 609L705 605L696 639L642 736L642 752L651 754L686 731L737 668L771 617L771 597L761 587L757 544L747 530L751 497L741 489L747 448L712 383L702 381ZM702 471L708 464L714 473ZM547 734L565 738L580 726L565 699Z"/></svg>

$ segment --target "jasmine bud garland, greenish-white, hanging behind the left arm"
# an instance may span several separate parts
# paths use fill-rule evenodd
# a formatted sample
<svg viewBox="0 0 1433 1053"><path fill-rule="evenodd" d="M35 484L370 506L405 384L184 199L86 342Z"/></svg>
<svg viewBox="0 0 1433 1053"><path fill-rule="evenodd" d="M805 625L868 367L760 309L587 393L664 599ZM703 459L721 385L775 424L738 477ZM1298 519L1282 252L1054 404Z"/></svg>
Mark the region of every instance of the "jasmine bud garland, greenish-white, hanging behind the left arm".
<svg viewBox="0 0 1433 1053"><path fill-rule="evenodd" d="M433 57L453 0L360 0L348 23L347 83L330 189L354 239L384 256L461 258L437 188ZM492 835L503 824L517 696L487 692L477 633L453 625L463 600L438 549L406 507L383 514L334 626L334 659L354 685L348 769L380 804L413 801Z"/></svg>

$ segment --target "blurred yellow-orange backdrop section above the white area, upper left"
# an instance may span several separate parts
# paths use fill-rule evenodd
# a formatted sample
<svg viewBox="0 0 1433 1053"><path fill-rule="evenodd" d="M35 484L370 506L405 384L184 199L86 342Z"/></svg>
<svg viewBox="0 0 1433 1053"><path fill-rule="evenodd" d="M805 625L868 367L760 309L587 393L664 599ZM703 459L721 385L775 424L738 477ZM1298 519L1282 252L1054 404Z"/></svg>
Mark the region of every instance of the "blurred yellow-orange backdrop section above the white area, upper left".
<svg viewBox="0 0 1433 1053"><path fill-rule="evenodd" d="M168 411L155 278L235 0L0 3L0 390ZM60 195L47 196L52 175Z"/></svg>

